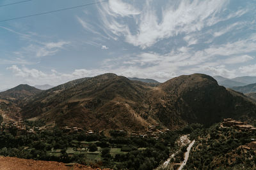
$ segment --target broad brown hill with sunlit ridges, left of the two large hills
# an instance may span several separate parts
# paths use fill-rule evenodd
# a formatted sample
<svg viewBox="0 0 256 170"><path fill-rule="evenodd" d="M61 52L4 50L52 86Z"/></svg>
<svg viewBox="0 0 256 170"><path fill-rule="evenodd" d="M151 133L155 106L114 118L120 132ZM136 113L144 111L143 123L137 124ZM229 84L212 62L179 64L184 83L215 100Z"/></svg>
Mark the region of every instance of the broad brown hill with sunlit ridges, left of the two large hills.
<svg viewBox="0 0 256 170"><path fill-rule="evenodd" d="M147 103L149 89L122 76L102 74L46 90L33 97L21 114L54 120L60 126L144 129L150 121L141 118L136 109Z"/></svg>

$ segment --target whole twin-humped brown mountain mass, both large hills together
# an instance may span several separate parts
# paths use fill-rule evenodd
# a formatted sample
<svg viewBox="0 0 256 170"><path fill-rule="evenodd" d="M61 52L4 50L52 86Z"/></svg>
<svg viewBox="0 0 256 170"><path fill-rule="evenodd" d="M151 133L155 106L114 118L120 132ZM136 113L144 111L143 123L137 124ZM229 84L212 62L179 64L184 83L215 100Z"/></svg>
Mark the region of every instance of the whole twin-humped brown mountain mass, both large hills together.
<svg viewBox="0 0 256 170"><path fill-rule="evenodd" d="M143 131L148 125L177 129L222 118L256 117L255 103L205 74L179 76L152 87L115 74L70 81L31 97L23 118L89 129Z"/></svg>

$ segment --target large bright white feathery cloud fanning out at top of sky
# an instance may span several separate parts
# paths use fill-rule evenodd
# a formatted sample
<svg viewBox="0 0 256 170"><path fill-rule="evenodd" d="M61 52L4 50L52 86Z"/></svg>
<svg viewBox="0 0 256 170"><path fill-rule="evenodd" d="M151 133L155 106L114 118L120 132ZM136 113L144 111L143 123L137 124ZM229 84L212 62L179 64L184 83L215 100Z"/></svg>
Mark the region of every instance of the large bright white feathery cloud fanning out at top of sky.
<svg viewBox="0 0 256 170"><path fill-rule="evenodd" d="M161 8L159 16L152 1L144 3L145 7L140 10L134 8L132 3L113 0L99 6L100 17L108 34L124 36L127 43L144 49L162 39L202 31L205 27L246 13L246 10L239 10L226 16L221 15L229 1L175 1ZM118 8L125 6L124 4L129 6L126 8L129 10ZM124 22L127 17L132 18L133 24L128 25ZM131 25L136 31L130 31ZM226 30L216 32L214 36L220 36L236 25L228 26ZM196 39L190 41L190 44L195 43Z"/></svg>

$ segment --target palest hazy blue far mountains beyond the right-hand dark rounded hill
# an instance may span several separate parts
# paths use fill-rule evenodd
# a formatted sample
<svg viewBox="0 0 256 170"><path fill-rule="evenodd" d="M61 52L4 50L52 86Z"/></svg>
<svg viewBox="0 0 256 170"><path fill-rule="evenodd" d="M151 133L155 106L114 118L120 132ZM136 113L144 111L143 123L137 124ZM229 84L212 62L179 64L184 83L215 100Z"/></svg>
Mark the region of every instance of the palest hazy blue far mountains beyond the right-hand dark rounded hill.
<svg viewBox="0 0 256 170"><path fill-rule="evenodd" d="M224 87L240 87L244 85L248 85L250 83L256 83L256 77L253 76L241 76L236 78L225 78L222 76L213 76L215 80L218 81L219 85L223 85Z"/></svg>

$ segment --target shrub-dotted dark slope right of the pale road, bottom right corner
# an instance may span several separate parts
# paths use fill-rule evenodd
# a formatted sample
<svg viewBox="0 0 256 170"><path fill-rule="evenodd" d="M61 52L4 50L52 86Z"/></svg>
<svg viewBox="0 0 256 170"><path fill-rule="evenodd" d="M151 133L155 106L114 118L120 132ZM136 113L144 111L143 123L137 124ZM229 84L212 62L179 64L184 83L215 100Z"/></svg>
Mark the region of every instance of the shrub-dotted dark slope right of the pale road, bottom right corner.
<svg viewBox="0 0 256 170"><path fill-rule="evenodd" d="M241 126L216 124L192 132L195 145L184 169L256 169L255 128Z"/></svg>

